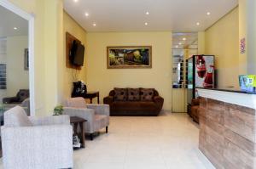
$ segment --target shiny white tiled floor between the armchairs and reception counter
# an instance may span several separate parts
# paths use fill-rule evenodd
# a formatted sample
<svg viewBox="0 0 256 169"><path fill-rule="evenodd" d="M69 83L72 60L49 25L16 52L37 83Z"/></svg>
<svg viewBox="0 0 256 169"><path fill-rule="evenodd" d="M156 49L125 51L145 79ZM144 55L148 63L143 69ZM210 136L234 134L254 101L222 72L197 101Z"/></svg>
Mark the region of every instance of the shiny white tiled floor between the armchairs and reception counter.
<svg viewBox="0 0 256 169"><path fill-rule="evenodd" d="M198 149L197 125L186 114L111 117L86 148L74 151L75 169L214 168ZM0 168L3 168L2 161Z"/></svg>

